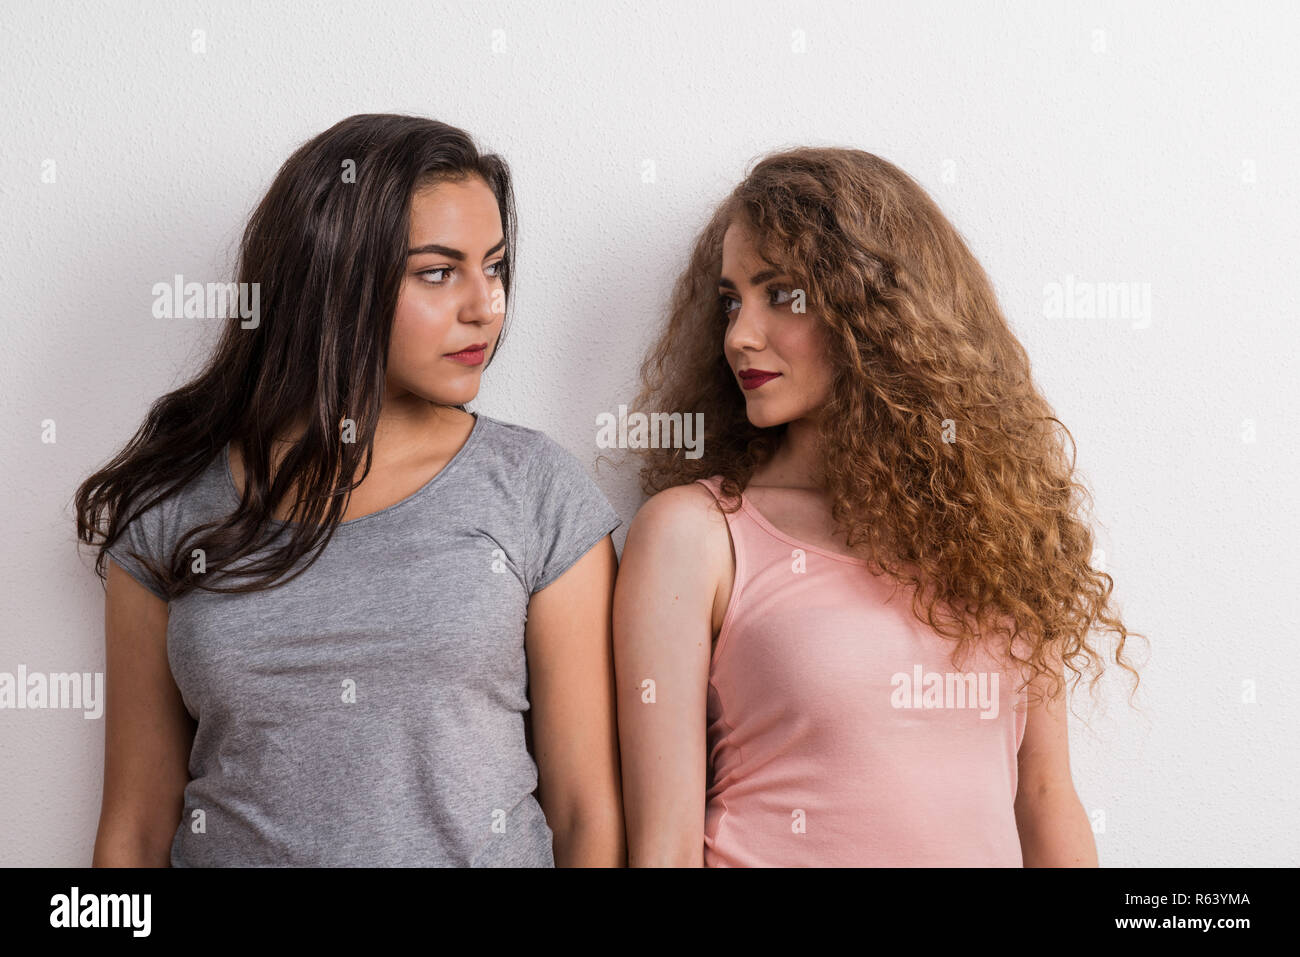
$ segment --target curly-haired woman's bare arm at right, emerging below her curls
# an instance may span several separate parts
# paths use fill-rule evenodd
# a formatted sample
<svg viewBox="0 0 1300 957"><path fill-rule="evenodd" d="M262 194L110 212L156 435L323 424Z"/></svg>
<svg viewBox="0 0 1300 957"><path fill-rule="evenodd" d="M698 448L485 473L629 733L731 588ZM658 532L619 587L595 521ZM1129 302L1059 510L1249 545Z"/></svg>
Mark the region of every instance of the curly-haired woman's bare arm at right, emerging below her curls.
<svg viewBox="0 0 1300 957"><path fill-rule="evenodd" d="M1057 676L1061 670L1057 667ZM1032 693L1037 689L1041 701ZM1019 753L1015 823L1026 867L1096 867L1097 845L1070 776L1067 692L1048 698L1048 683L1031 683L1030 711Z"/></svg>

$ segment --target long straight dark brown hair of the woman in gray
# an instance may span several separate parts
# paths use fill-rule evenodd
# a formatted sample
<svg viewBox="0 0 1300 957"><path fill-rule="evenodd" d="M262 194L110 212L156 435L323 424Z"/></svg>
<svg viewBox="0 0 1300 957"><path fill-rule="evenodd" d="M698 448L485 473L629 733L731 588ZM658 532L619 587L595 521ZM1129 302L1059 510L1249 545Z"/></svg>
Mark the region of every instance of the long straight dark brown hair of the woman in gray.
<svg viewBox="0 0 1300 957"><path fill-rule="evenodd" d="M200 588L252 592L290 581L316 560L370 469L389 341L407 263L411 198L443 181L482 178L497 196L506 248L499 276L510 303L516 218L510 168L454 126L424 117L348 117L299 147L254 211L239 246L237 281L259 285L259 321L237 312L205 367L162 395L131 441L75 495L77 534L107 551L139 514L196 478L228 442L243 452L239 507L187 529L159 566L135 555L169 599ZM504 341L506 324L498 341ZM495 358L495 351L493 352ZM463 408L458 406L458 408ZM355 423L343 441L339 423ZM272 472L272 441L307 426ZM361 477L351 476L363 465ZM269 547L272 516L290 489L292 533ZM213 575L251 553L239 579ZM208 570L187 555L203 549ZM282 584L282 583L280 583Z"/></svg>

